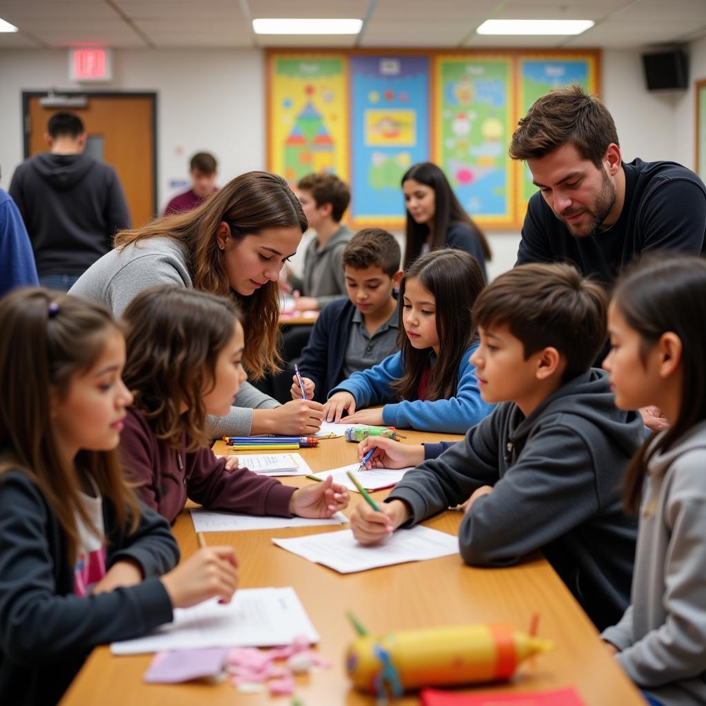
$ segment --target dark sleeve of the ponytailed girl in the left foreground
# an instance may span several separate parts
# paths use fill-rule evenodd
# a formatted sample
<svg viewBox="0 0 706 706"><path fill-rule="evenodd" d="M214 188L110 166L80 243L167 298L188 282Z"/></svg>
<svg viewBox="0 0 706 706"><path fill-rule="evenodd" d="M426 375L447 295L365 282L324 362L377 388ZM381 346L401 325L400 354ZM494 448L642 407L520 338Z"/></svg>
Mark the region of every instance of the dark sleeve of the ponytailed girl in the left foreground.
<svg viewBox="0 0 706 706"><path fill-rule="evenodd" d="M48 527L40 491L23 473L6 472L0 484L0 651L15 664L78 657L172 621L167 590L156 577L98 595L57 594L54 570L66 560L56 556Z"/></svg>

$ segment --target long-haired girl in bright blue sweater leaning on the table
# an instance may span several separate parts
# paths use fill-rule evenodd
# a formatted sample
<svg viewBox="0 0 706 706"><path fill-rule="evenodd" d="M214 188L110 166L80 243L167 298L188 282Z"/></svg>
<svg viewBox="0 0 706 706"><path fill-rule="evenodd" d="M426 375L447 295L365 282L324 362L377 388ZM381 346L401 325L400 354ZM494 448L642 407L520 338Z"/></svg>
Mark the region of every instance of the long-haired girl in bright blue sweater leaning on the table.
<svg viewBox="0 0 706 706"><path fill-rule="evenodd" d="M418 258L400 284L400 351L330 391L324 419L465 433L489 414L469 358L477 348L473 303L485 279L475 258L453 249ZM360 407L384 405L382 409Z"/></svg>

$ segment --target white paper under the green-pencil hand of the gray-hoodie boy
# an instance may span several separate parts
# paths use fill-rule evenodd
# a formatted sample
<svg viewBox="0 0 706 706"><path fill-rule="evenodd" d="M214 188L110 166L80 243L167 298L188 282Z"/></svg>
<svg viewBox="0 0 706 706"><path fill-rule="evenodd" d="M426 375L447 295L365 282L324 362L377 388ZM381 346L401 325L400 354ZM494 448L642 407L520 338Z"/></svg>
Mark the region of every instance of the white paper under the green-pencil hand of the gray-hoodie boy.
<svg viewBox="0 0 706 706"><path fill-rule="evenodd" d="M292 554L328 566L338 573L354 573L378 566L435 559L458 551L457 537L422 525L412 527L411 530L397 530L388 539L370 546L359 544L351 530L272 541Z"/></svg>

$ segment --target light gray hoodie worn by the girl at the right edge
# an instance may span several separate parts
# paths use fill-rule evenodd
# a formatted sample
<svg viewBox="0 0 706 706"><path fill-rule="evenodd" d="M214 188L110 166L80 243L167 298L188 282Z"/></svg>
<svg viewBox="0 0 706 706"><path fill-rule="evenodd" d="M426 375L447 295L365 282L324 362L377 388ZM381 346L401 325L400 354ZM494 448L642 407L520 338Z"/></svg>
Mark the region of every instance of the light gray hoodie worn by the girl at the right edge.
<svg viewBox="0 0 706 706"><path fill-rule="evenodd" d="M665 706L706 703L706 421L650 460L632 603L601 637Z"/></svg>

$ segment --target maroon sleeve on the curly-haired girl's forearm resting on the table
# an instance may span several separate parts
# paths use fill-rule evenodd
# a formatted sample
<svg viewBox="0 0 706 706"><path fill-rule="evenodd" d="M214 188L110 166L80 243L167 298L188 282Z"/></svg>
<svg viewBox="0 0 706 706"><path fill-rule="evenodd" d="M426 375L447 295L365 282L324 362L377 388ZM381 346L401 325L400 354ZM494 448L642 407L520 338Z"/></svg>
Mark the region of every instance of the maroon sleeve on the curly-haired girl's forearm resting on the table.
<svg viewBox="0 0 706 706"><path fill-rule="evenodd" d="M186 491L209 510L292 517L289 501L296 490L246 468L228 471L225 458L217 458L210 449L187 456Z"/></svg>

